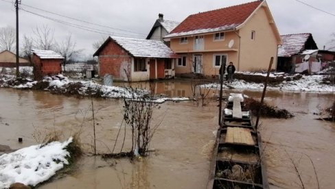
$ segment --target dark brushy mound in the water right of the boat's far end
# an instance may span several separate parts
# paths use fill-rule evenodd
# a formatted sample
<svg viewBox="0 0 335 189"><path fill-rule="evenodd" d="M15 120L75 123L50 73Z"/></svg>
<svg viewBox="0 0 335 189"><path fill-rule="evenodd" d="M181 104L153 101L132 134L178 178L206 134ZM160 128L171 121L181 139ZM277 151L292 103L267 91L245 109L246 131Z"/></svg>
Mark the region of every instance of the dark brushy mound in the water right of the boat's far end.
<svg viewBox="0 0 335 189"><path fill-rule="evenodd" d="M245 108L247 110L251 110L253 115L257 115L257 111L261 106L260 101L257 101L253 98L246 98L244 100L245 100L244 101ZM294 115L288 112L288 110L279 109L277 106L276 107L270 106L270 105L267 105L266 103L262 105L260 115L264 117L269 117L269 118L292 118L294 117Z"/></svg>

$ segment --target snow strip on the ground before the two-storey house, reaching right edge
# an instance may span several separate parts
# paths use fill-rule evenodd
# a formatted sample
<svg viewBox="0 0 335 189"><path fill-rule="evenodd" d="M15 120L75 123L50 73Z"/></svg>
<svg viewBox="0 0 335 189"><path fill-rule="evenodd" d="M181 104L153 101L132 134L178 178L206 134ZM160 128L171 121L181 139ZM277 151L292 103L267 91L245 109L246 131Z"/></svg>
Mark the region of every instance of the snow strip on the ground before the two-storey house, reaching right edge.
<svg viewBox="0 0 335 189"><path fill-rule="evenodd" d="M283 90L283 91L296 91L296 92L334 92L335 86L323 84L325 75L303 75L299 80L283 81L281 84L272 86L268 84L267 90ZM206 84L204 88L218 88L220 84ZM244 80L235 79L231 83L224 81L224 89L246 89L246 90L263 90L264 84L249 83Z"/></svg>

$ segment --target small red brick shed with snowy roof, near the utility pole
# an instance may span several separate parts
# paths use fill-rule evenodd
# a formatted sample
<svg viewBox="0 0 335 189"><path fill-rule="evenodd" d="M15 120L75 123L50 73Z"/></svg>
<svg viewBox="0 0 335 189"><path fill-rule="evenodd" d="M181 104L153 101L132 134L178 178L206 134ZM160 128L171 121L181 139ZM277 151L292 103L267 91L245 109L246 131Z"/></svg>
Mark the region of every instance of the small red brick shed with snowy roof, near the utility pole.
<svg viewBox="0 0 335 189"><path fill-rule="evenodd" d="M32 50L34 77L40 80L46 75L56 75L62 72L62 55L50 50Z"/></svg>

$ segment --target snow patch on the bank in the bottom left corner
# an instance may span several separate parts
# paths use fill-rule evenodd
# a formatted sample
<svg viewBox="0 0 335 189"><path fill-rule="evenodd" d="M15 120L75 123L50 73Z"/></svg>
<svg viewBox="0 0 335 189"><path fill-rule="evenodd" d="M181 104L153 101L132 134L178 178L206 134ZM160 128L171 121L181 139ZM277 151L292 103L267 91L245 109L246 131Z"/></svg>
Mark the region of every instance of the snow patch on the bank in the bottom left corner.
<svg viewBox="0 0 335 189"><path fill-rule="evenodd" d="M44 147L34 145L0 156L0 188L21 182L36 186L52 177L56 171L69 164L65 150L72 138L65 142L51 142Z"/></svg>

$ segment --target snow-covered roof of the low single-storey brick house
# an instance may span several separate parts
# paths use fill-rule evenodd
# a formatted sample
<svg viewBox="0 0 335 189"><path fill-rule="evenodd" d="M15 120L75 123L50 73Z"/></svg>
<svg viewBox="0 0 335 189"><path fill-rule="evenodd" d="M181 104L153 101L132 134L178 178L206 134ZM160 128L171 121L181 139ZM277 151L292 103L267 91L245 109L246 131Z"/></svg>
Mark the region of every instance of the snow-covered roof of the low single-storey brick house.
<svg viewBox="0 0 335 189"><path fill-rule="evenodd" d="M147 40L141 38L126 38L110 36L102 46L97 49L93 56L99 55L100 51L113 40L130 55L140 58L178 58L169 47L159 40Z"/></svg>

